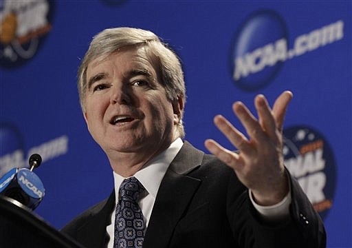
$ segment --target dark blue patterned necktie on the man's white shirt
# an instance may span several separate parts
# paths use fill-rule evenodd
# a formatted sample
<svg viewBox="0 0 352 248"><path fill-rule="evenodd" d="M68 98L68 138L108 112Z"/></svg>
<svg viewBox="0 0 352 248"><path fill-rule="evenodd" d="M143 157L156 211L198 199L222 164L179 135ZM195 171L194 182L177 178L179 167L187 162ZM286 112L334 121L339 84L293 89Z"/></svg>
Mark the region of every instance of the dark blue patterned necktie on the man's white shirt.
<svg viewBox="0 0 352 248"><path fill-rule="evenodd" d="M115 213L114 248L140 248L144 240L144 220L137 198L145 189L135 177L125 179L120 186L120 200Z"/></svg>

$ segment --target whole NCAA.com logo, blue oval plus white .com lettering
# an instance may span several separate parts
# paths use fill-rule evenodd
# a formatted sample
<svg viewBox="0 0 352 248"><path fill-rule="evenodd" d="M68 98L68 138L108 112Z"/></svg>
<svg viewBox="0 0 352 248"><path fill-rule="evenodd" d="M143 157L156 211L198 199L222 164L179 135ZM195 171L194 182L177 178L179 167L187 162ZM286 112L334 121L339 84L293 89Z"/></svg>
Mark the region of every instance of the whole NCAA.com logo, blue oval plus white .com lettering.
<svg viewBox="0 0 352 248"><path fill-rule="evenodd" d="M232 79L243 90L259 90L275 78L285 61L343 38L344 22L338 20L300 34L288 48L283 18L272 10L254 12L235 35L230 53Z"/></svg>

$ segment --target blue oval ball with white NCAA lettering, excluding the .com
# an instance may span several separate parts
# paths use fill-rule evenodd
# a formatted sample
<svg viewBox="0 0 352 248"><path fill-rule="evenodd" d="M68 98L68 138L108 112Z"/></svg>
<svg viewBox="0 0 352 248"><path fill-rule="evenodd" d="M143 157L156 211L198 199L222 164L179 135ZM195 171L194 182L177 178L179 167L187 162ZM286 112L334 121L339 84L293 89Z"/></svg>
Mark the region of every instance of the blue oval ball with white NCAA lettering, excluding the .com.
<svg viewBox="0 0 352 248"><path fill-rule="evenodd" d="M272 10L254 12L237 30L230 65L234 83L254 91L270 83L287 56L287 28Z"/></svg>

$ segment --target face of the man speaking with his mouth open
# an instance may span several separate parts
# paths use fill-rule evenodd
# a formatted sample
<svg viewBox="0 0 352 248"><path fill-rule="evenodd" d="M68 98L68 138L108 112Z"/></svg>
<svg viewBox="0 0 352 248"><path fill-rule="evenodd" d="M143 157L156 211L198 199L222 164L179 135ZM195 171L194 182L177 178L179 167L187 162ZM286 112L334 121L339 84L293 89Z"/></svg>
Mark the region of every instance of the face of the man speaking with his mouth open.
<svg viewBox="0 0 352 248"><path fill-rule="evenodd" d="M108 156L128 152L150 156L173 141L181 105L166 98L144 47L92 61L87 84L85 120Z"/></svg>

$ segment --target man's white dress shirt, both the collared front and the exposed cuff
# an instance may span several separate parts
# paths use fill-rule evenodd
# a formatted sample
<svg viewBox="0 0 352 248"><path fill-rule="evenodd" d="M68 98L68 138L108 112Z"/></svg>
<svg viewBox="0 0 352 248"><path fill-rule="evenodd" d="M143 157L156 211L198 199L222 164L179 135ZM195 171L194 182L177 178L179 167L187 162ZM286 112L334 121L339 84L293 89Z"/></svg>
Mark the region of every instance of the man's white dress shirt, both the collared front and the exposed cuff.
<svg viewBox="0 0 352 248"><path fill-rule="evenodd" d="M157 196L157 191L159 190L159 186L162 183L162 178L168 169L168 166L173 161L182 145L181 138L177 138L176 141L171 143L171 145L161 154L157 155L151 161L148 161L146 165L138 171L134 177L137 178L140 183L144 186L145 193L141 194L137 200L140 209L142 210L144 216L144 223L146 228L148 227L149 220L151 218L151 211L153 209L155 198ZM120 176L113 172L113 179L115 185L115 204L118 203L120 199L120 195L118 194L120 185L122 181L126 178ZM287 194L287 196L281 201L273 206L261 206L254 202L252 198L252 194L250 193L250 200L252 201L254 207L257 211L265 218L266 220L283 218L288 216L289 214L289 204L291 203L291 194ZM108 243L109 248L113 248L113 236L115 229L115 209L111 213L111 224L107 226L107 233L111 237Z"/></svg>

